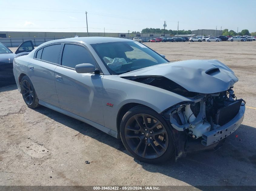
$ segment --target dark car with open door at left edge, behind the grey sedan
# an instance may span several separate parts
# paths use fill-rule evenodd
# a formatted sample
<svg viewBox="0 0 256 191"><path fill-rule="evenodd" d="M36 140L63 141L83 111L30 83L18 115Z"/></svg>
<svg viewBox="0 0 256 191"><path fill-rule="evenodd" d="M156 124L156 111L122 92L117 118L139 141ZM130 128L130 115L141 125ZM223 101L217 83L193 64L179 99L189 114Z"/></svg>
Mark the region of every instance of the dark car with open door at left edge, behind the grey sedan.
<svg viewBox="0 0 256 191"><path fill-rule="evenodd" d="M0 43L0 87L10 84L15 84L13 75L13 59L16 56L26 54L34 49L31 40L23 42L15 53Z"/></svg>

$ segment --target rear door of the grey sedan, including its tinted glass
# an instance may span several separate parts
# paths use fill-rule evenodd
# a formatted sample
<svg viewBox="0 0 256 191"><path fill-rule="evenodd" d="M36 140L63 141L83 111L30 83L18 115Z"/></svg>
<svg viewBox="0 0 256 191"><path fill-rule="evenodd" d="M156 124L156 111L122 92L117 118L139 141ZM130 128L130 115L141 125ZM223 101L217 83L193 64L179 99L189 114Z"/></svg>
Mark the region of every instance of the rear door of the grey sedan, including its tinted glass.
<svg viewBox="0 0 256 191"><path fill-rule="evenodd" d="M38 99L59 107L55 88L54 70L58 65L61 43L55 43L38 49L34 59L28 63L28 75L37 93Z"/></svg>

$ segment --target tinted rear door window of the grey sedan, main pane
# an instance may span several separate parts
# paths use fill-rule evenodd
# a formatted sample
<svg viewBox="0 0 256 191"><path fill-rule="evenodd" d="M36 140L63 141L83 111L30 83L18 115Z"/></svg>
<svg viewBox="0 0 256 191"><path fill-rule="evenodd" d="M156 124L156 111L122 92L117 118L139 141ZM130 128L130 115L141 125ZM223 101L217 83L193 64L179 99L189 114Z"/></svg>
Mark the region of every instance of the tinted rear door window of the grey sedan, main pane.
<svg viewBox="0 0 256 191"><path fill-rule="evenodd" d="M41 60L57 64L61 46L62 46L61 44L55 44L55 45L44 47Z"/></svg>

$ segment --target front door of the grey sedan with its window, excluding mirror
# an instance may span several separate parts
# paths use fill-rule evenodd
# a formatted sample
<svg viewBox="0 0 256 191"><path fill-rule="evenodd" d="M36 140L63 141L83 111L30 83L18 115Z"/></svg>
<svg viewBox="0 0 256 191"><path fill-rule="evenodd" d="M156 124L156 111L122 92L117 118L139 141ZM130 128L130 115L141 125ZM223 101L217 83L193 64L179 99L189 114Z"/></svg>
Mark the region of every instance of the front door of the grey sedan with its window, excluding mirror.
<svg viewBox="0 0 256 191"><path fill-rule="evenodd" d="M89 50L81 44L65 43L60 62L54 74L60 108L104 126L103 75L75 71L75 65L82 63L99 68Z"/></svg>

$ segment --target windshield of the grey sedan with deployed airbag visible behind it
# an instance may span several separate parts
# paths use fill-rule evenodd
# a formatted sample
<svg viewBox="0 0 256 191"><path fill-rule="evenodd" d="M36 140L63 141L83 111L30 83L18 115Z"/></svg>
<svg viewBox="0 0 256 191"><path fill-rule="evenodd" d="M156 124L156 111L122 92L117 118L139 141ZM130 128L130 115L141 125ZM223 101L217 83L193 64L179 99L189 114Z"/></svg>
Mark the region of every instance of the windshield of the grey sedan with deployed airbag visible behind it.
<svg viewBox="0 0 256 191"><path fill-rule="evenodd" d="M113 75L168 62L138 42L111 42L91 46Z"/></svg>

